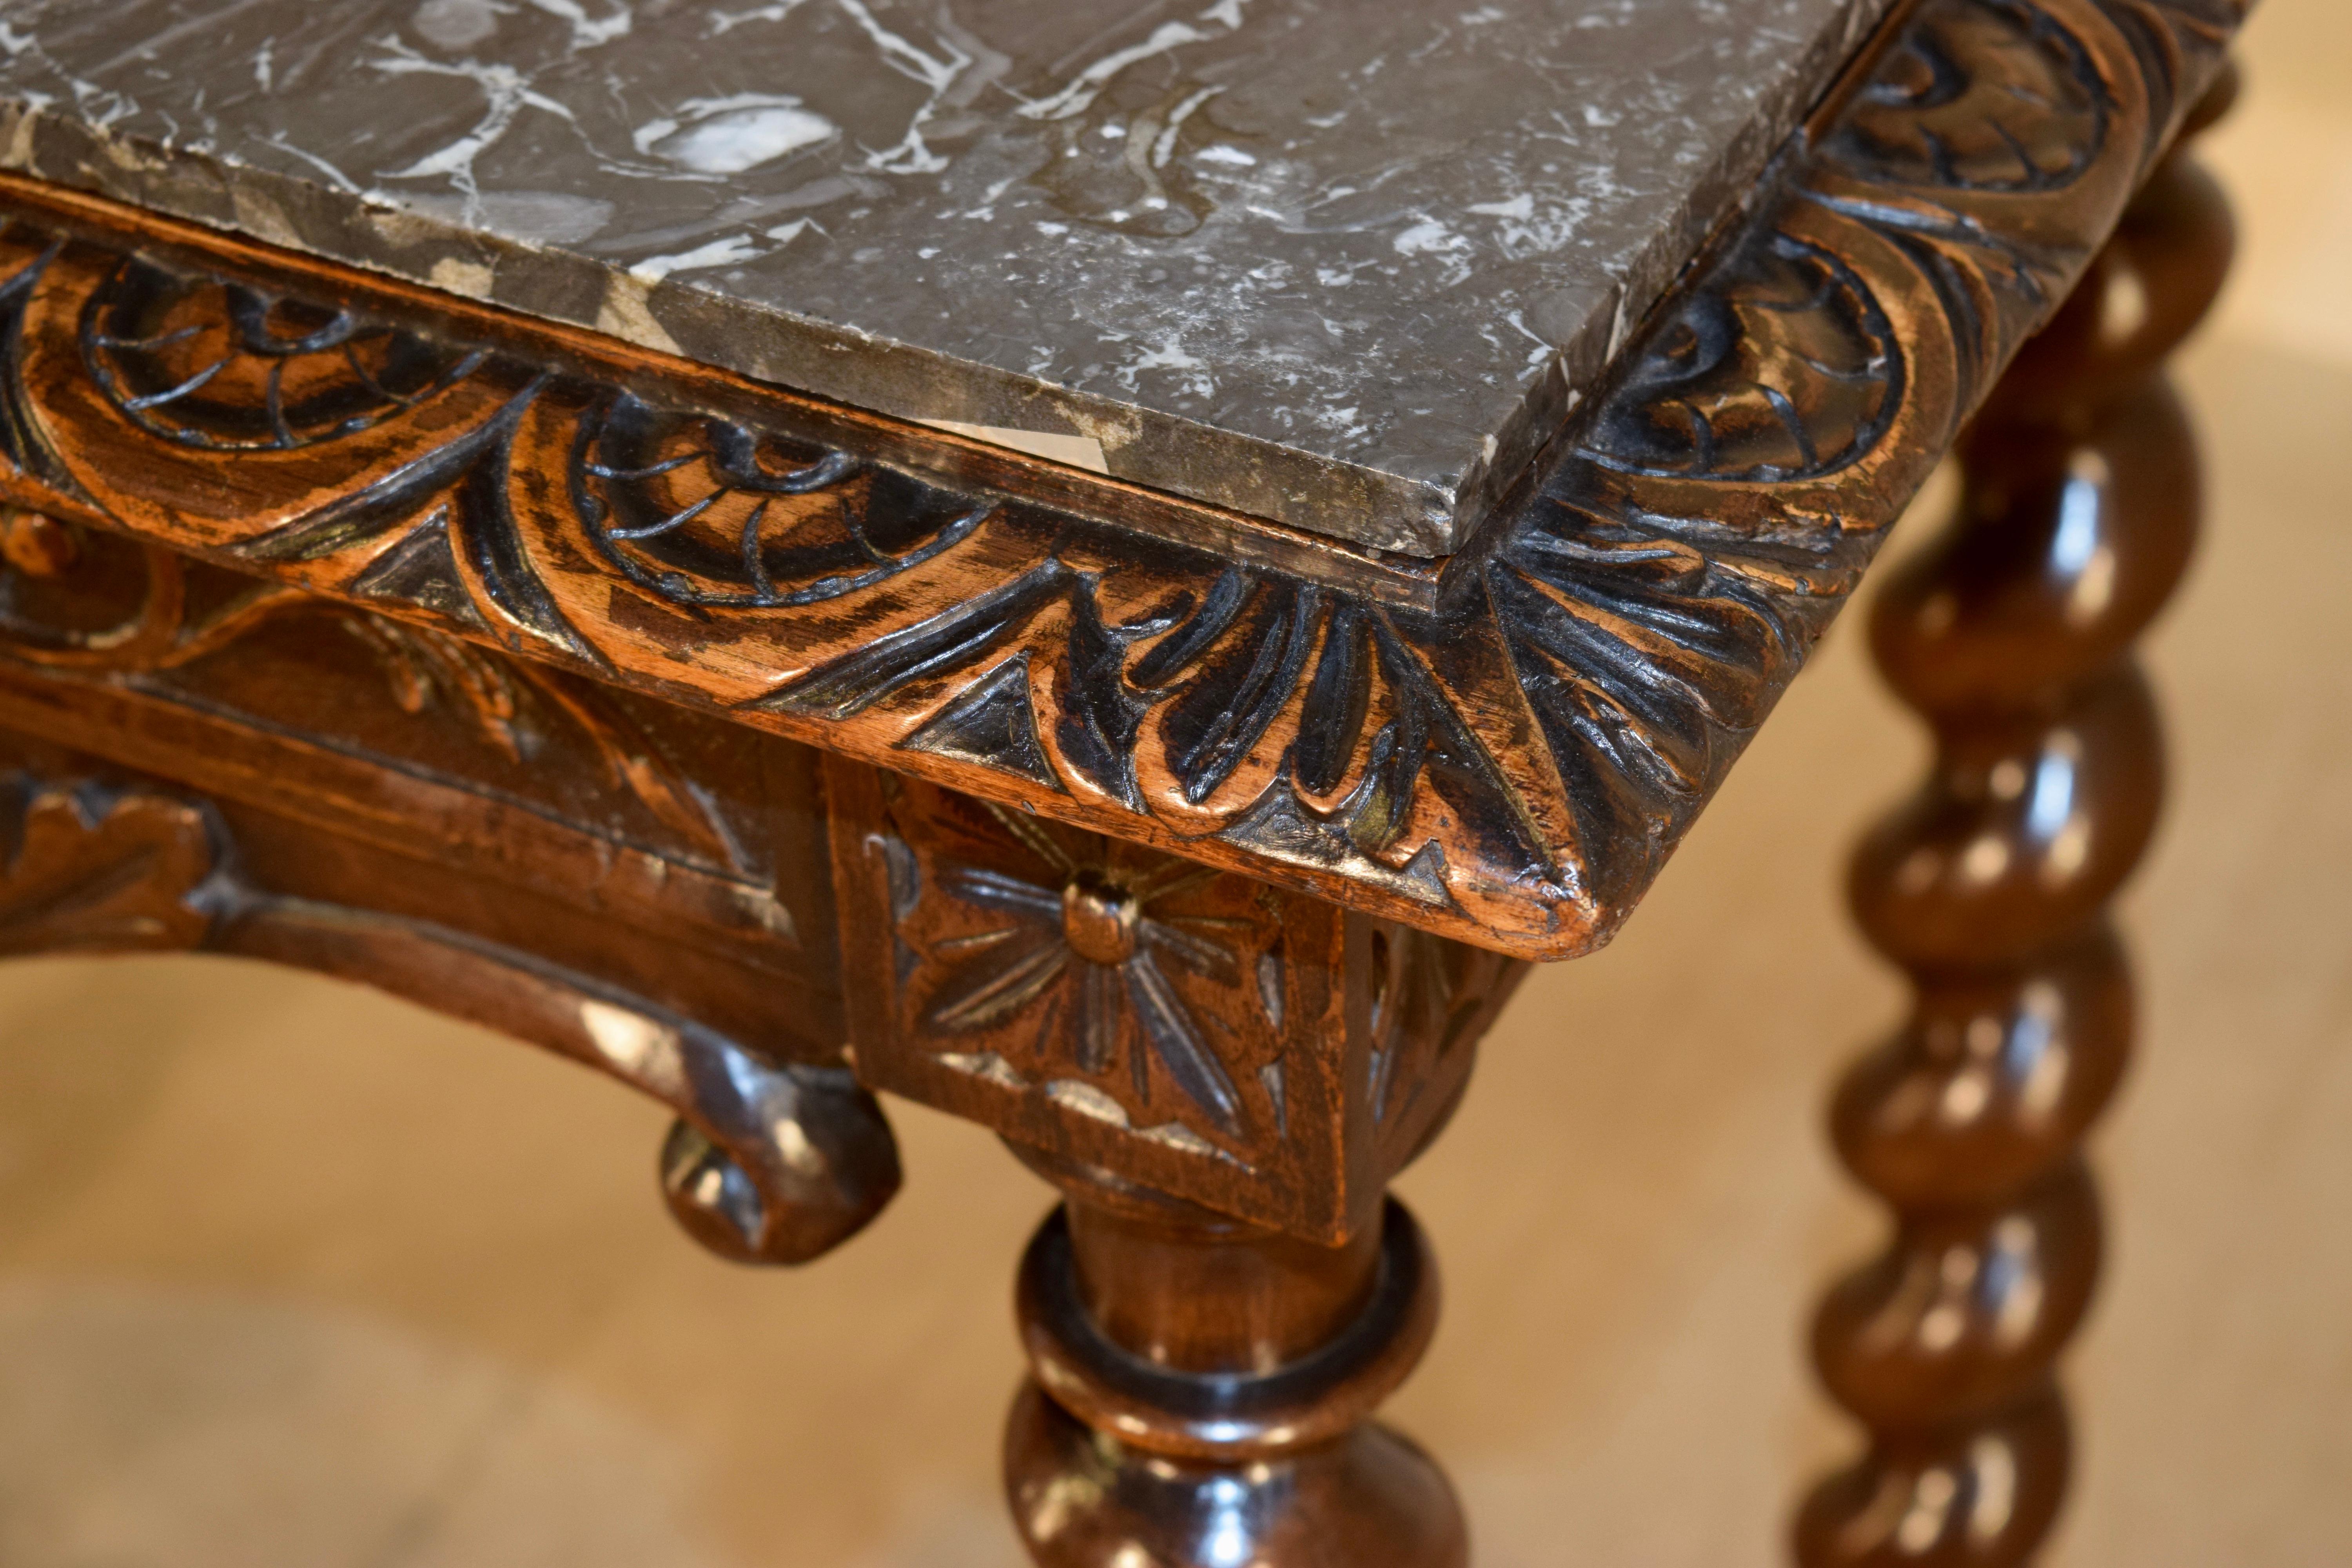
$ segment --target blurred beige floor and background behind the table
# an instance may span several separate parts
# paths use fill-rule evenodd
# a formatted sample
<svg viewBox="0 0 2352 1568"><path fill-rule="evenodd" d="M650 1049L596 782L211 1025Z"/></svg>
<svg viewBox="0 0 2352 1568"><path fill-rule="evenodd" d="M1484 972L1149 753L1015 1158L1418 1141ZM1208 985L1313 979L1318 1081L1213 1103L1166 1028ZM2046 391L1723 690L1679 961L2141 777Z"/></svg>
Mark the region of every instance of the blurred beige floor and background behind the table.
<svg viewBox="0 0 2352 1568"><path fill-rule="evenodd" d="M2058 1568L2352 1563L2352 7L2267 0L2246 61ZM1482 1568L1762 1568L1849 1441L1799 1338L1877 1222L1818 1105L1900 990L1837 865L1922 764L1856 632L1404 1180L1449 1316L1392 1418ZM750 1274L663 1218L663 1112L569 1065L226 961L0 971L0 1563L1014 1568L995 1439L1047 1192L891 1114L882 1222Z"/></svg>

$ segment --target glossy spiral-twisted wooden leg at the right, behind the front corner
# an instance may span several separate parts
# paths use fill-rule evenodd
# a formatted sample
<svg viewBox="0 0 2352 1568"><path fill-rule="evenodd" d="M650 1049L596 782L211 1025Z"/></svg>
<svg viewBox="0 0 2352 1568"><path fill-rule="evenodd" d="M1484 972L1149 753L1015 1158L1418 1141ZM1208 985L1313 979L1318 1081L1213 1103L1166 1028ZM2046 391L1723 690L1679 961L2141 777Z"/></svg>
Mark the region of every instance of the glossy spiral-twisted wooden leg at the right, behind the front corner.
<svg viewBox="0 0 2352 1568"><path fill-rule="evenodd" d="M1860 926L1917 1001L1832 1107L1837 1150L1896 1237L1813 1326L1870 1450L1806 1500L1809 1566L2023 1563L2065 1495L2053 1363L2100 1260L2082 1140L2133 1030L2107 903L2161 795L2131 644L2199 510L2161 362L2211 306L2230 244L2218 190L2173 153L1978 416L1959 520L1872 614L1886 679L1936 731L1936 771L1853 863Z"/></svg>

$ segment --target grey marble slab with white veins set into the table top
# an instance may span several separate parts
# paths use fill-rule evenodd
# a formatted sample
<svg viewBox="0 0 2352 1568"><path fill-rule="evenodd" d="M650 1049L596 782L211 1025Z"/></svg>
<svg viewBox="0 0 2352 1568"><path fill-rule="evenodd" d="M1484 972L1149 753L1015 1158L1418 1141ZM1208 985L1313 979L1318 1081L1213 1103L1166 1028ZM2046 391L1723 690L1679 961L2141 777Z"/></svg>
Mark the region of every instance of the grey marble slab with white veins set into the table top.
<svg viewBox="0 0 2352 1568"><path fill-rule="evenodd" d="M0 165L1442 555L1884 9L0 0Z"/></svg>

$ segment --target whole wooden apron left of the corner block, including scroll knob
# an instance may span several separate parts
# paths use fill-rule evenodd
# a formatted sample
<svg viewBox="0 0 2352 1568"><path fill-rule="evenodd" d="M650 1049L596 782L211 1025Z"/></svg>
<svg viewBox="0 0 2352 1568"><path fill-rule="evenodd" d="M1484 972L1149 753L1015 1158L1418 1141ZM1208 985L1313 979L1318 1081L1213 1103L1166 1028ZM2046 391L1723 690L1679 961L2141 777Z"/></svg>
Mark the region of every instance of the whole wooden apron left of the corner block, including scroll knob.
<svg viewBox="0 0 2352 1568"><path fill-rule="evenodd" d="M261 957L583 1060L680 1114L727 1258L896 1190L814 752L31 512L0 552L0 952Z"/></svg>

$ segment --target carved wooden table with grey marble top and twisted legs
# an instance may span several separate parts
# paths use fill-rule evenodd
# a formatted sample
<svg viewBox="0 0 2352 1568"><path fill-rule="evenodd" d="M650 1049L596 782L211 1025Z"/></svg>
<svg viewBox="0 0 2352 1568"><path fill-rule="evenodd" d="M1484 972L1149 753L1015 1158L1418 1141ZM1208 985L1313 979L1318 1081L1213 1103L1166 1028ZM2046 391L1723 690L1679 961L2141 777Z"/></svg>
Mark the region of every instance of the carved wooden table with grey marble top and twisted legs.
<svg viewBox="0 0 2352 1568"><path fill-rule="evenodd" d="M1040 1563L1458 1566L1388 1182L1957 454L1795 1554L2027 1561L2244 9L21 0L0 947L572 1056L739 1262L877 1218L877 1091L978 1121Z"/></svg>

